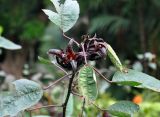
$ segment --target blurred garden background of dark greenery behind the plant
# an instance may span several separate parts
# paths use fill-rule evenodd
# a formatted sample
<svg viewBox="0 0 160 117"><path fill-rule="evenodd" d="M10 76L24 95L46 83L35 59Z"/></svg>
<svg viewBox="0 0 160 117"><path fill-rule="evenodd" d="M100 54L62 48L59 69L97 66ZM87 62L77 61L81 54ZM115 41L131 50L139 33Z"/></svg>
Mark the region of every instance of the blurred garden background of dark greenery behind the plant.
<svg viewBox="0 0 160 117"><path fill-rule="evenodd" d="M122 63L138 71L160 79L160 0L78 0L80 18L66 35L81 42L81 36L89 34L103 38L117 52ZM49 0L0 0L0 26L2 36L22 46L21 50L0 49L0 91L8 90L16 79L27 78L47 86L63 73L53 65L44 65L38 56L48 58L51 48L66 47L67 40L50 22L42 9L55 10ZM100 63L100 64L99 64ZM110 77L115 68L110 60L92 62L101 73ZM101 107L119 100L131 100L141 106L137 117L158 117L160 95L128 86L110 86L99 78ZM36 106L62 103L65 83L47 90ZM75 115L78 117L81 103L75 98ZM88 117L103 117L104 113L87 106ZM33 115L60 117L61 110L41 109ZM28 116L28 113L25 115Z"/></svg>

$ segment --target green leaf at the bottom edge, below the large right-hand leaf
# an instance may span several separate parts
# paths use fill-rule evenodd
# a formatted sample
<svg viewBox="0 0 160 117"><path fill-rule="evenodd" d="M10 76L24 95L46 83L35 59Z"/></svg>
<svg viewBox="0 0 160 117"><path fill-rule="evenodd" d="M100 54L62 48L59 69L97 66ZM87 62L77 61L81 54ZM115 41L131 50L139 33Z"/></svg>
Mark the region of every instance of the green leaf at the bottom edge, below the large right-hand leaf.
<svg viewBox="0 0 160 117"><path fill-rule="evenodd" d="M108 112L118 117L133 117L138 112L139 106L130 101L120 101L108 108Z"/></svg>

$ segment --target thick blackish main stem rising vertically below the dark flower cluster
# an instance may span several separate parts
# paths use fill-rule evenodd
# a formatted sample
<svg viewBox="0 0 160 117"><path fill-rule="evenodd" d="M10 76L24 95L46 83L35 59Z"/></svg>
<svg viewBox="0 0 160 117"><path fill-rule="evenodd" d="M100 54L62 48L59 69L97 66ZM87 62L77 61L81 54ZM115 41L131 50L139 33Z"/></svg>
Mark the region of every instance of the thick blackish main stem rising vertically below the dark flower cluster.
<svg viewBox="0 0 160 117"><path fill-rule="evenodd" d="M69 100L69 97L70 97L70 94L71 94L72 82L73 82L74 76L75 76L75 72L73 71L72 77L69 80L67 97L66 97L66 100L63 104L63 117L65 117L65 114L66 114L66 107L67 107L67 103L68 103L68 100Z"/></svg>

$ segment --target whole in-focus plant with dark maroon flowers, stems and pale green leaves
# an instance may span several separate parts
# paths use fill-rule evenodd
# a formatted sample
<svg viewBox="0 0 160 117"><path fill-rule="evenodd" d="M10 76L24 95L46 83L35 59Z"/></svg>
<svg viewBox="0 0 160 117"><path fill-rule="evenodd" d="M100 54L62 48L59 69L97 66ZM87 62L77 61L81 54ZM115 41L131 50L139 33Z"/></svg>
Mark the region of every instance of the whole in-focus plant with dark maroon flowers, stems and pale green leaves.
<svg viewBox="0 0 160 117"><path fill-rule="evenodd" d="M62 30L63 37L68 39L68 45L63 49L49 49L47 53L50 61L42 57L39 57L39 60L44 63L54 64L66 75L45 88L25 79L13 82L15 85L14 95L9 92L5 96L3 95L3 99L0 100L0 116L16 115L24 110L31 113L32 110L40 108L60 107L63 108L63 117L72 117L74 108L73 96L78 96L82 102L81 111L78 113L81 117L86 104L96 106L97 109L105 112L106 116L133 117L134 113L139 110L139 106L130 101L119 101L104 108L100 108L95 104L98 96L96 75L99 75L100 78L110 84L116 83L147 88L157 92L160 92L160 81L147 74L124 68L112 47L96 35L93 37L83 35L80 43L68 37L65 33L74 26L79 17L79 4L76 0L66 0L63 4L60 3L60 0L51 1L55 6L56 12L47 9L43 9L43 11ZM77 46L78 49L75 50L73 45ZM117 72L113 75L111 81L88 62L104 59L107 55L117 68ZM31 108L41 99L43 91L52 88L52 86L64 79L68 79L69 84L65 101L62 104ZM76 86L78 87L77 89L74 88ZM24 103L24 101L26 102Z"/></svg>

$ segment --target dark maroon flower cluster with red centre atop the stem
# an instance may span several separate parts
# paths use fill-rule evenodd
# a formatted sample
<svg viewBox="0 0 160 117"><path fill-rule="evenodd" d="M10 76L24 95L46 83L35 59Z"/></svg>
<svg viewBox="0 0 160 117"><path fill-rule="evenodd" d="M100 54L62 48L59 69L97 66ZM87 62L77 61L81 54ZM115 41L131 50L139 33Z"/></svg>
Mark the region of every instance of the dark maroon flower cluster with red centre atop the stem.
<svg viewBox="0 0 160 117"><path fill-rule="evenodd" d="M83 42L78 47L78 51L73 50L73 40L70 40L66 49L50 49L48 54L55 56L57 63L63 68L73 70L84 64L84 57L91 61L104 58L107 52L104 43L102 38L85 36ZM84 45L84 52L82 45Z"/></svg>

